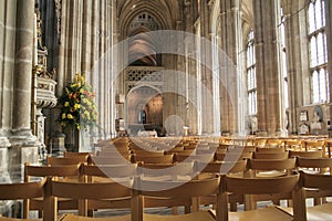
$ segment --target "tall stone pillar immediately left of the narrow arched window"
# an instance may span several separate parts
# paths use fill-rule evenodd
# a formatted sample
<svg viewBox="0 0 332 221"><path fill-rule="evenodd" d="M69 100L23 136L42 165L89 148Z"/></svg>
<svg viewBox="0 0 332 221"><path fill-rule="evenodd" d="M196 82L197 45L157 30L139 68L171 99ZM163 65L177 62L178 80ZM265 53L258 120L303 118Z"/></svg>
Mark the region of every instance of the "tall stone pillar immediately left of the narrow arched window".
<svg viewBox="0 0 332 221"><path fill-rule="evenodd" d="M239 49L239 1L220 1L220 104L221 104L221 134L235 134L238 131L237 120L237 70Z"/></svg>

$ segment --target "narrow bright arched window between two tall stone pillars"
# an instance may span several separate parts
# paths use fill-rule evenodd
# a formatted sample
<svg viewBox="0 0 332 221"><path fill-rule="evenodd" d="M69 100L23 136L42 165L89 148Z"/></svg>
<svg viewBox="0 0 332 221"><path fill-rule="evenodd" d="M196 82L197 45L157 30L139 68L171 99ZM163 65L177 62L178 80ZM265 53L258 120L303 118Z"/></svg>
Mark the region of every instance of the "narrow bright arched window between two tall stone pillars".
<svg viewBox="0 0 332 221"><path fill-rule="evenodd" d="M256 57L253 31L248 35L247 42L247 90L248 90L248 114L257 114L257 83L256 83Z"/></svg>

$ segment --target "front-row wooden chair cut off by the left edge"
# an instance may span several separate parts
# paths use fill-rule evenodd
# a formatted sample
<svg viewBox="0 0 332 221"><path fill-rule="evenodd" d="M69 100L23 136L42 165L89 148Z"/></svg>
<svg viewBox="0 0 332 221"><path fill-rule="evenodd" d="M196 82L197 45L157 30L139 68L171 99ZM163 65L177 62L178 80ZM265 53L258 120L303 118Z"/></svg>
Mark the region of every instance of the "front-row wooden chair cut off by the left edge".
<svg viewBox="0 0 332 221"><path fill-rule="evenodd" d="M0 183L0 200L30 200L35 198L44 197L44 185L45 179L38 182L22 182L22 183ZM29 207L25 208L23 212L25 221L32 219L27 219L29 217ZM1 221L15 221L19 219L13 218L2 218ZM48 221L46 218L43 218L44 221Z"/></svg>

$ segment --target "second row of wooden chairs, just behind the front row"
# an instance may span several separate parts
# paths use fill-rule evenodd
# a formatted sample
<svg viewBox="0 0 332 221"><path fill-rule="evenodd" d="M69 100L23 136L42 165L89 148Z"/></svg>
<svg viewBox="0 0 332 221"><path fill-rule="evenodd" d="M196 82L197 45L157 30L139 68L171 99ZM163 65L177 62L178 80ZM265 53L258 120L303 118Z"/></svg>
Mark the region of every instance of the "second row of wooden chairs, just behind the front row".
<svg viewBox="0 0 332 221"><path fill-rule="evenodd" d="M194 167L195 165L195 167ZM252 177L267 177L267 176L284 176L289 175L292 169L295 168L317 168L319 172L331 171L332 161L329 158L320 159L305 159L298 158L295 164L295 158L286 159L286 160L262 160L262 159L249 159L248 165L246 160L240 161L197 161L193 162L181 162L178 165L174 164L146 164L139 167L141 171L136 170L137 165L117 165L117 166L87 166L82 165L79 170L77 165L72 167L65 167L65 171L61 171L61 167L39 167L25 165L25 181L30 181L30 177L46 177L46 176L96 176L101 177L112 177L112 178L123 178L127 176L135 176L138 173L146 175L146 177L163 177L168 178L172 176L181 176L186 177L188 180L191 179L199 172L217 172L226 175L229 172L243 172L251 171ZM113 170L111 170L113 169ZM114 170L115 169L115 170ZM274 170L272 173L263 173L262 170ZM277 170L277 171L276 171ZM83 172L82 172L83 171ZM159 179L159 178L158 178ZM64 208L69 208L68 203L63 203ZM74 206L70 207L72 209ZM34 209L41 208L40 203ZM62 207L61 207L62 208ZM63 209L64 209L63 208Z"/></svg>

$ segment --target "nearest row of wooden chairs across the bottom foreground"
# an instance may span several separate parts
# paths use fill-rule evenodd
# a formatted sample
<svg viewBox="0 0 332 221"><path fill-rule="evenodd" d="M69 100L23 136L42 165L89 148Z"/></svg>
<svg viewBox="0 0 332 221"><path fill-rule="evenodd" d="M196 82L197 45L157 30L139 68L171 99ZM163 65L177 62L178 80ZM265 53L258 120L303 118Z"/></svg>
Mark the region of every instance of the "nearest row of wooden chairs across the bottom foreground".
<svg viewBox="0 0 332 221"><path fill-rule="evenodd" d="M331 220L331 203L308 209L305 206L305 189L314 188L321 196L331 193L332 176L300 172L286 177L273 178L246 178L234 175L219 176L206 179L196 179L188 182L173 180L126 180L122 182L77 182L48 178L40 182L24 182L0 185L0 200L31 199L43 197L43 220L58 220L56 198L79 200L79 214L85 215L87 200L129 199L131 214L124 217L106 218L105 220L167 220L166 217L144 213L144 198L174 198L191 199L197 197L217 196L216 210L197 211L190 214L169 215L169 220L310 220L320 217ZM137 183L136 183L137 182ZM139 187L139 188L137 188ZM172 187L172 188L170 188ZM153 191L155 190L155 191ZM322 191L321 191L322 190ZM271 207L245 212L229 212L229 193L239 194L280 194L292 192L293 208L284 209ZM325 212L322 211L322 208ZM308 210L308 214L307 214ZM284 212L286 211L286 212ZM308 215L308 217L307 217ZM62 221L79 220L77 215L66 214ZM1 220L1 219L0 219ZM3 219L6 220L6 219ZM89 220L89 218L85 218ZM90 220L95 220L91 218Z"/></svg>

